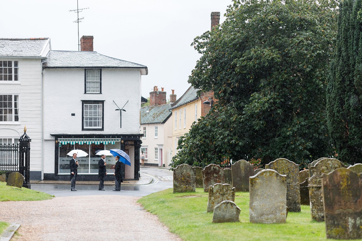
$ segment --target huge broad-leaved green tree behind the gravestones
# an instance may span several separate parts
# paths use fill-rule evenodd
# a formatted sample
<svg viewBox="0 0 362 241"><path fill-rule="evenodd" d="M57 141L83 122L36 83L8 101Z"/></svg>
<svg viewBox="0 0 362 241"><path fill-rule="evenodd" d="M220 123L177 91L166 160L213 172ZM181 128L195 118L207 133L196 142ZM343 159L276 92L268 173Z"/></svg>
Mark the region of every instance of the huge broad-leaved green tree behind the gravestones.
<svg viewBox="0 0 362 241"><path fill-rule="evenodd" d="M333 0L234 1L222 25L192 43L202 57L189 83L218 102L179 140L172 166L287 158L305 167L328 155L336 17Z"/></svg>

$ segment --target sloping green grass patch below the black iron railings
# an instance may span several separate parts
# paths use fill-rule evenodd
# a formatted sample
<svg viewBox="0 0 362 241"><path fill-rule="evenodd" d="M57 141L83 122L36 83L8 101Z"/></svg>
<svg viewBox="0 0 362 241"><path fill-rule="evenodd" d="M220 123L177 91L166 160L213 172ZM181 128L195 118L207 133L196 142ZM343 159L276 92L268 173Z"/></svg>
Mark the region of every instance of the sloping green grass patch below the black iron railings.
<svg viewBox="0 0 362 241"><path fill-rule="evenodd" d="M16 188L7 186L6 182L0 182L0 202L3 201L40 201L54 197L53 195L35 191L28 188Z"/></svg>

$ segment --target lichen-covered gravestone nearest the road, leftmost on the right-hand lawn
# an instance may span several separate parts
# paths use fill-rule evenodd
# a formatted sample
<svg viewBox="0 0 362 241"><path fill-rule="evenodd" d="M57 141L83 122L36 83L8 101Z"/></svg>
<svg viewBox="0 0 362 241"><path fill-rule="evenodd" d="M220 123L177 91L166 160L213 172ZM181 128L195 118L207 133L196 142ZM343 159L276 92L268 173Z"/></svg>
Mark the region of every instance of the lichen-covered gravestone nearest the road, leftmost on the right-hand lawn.
<svg viewBox="0 0 362 241"><path fill-rule="evenodd" d="M195 170L188 164L178 165L173 169L173 193L196 191Z"/></svg>

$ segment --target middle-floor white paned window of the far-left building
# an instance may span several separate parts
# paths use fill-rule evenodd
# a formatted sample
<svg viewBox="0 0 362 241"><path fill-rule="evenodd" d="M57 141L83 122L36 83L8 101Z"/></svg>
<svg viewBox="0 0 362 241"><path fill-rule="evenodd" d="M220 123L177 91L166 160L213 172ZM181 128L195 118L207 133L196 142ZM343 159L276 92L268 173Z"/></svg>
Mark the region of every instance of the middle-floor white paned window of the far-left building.
<svg viewBox="0 0 362 241"><path fill-rule="evenodd" d="M11 101L9 101L9 96L11 96ZM0 123L19 123L19 109L18 94L0 94Z"/></svg>

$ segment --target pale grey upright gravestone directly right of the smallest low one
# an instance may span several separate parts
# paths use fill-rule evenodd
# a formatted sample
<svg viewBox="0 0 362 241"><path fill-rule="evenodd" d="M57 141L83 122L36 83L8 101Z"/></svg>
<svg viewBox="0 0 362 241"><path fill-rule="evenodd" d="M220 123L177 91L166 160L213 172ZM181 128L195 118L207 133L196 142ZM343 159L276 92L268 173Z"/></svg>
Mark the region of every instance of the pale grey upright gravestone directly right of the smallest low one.
<svg viewBox="0 0 362 241"><path fill-rule="evenodd" d="M285 223L287 176L265 169L250 177L249 220L251 223Z"/></svg>

